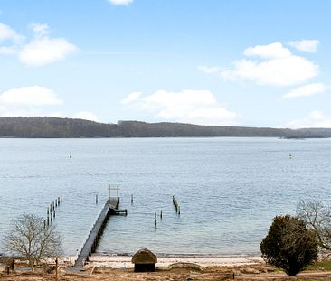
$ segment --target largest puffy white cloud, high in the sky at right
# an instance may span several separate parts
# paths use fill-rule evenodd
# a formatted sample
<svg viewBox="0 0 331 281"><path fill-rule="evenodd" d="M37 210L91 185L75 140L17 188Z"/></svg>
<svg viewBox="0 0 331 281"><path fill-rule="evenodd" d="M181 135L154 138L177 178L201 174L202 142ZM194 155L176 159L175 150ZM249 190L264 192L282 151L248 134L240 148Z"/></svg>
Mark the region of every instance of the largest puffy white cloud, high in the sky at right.
<svg viewBox="0 0 331 281"><path fill-rule="evenodd" d="M256 56L256 60L233 61L233 68L217 71L213 67L200 68L207 73L217 73L226 80L249 80L258 85L285 87L307 82L317 76L318 65L314 61L297 56L284 48L280 42L247 48L246 56Z"/></svg>

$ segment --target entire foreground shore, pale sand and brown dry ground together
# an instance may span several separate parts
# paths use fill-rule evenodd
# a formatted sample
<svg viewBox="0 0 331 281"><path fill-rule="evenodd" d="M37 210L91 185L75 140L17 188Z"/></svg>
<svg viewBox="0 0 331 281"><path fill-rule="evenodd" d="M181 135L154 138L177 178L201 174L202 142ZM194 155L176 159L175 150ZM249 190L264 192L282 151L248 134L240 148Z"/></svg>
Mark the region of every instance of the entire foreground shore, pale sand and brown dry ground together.
<svg viewBox="0 0 331 281"><path fill-rule="evenodd" d="M72 259L72 258L71 258ZM131 257L123 256L92 256L90 262L79 271L71 271L64 267L64 261L70 258L61 258L61 264L56 279L54 265L47 270L38 267L35 272L26 270L19 265L14 272L7 275L0 270L1 281L221 281L221 280L277 280L277 281L326 281L331 280L331 272L320 269L306 271L298 278L288 277L275 267L270 267L261 261L260 257L165 257L158 258L156 272L135 273ZM168 267L175 264L180 267ZM194 264L194 265L193 265ZM195 267L195 265L198 265Z"/></svg>

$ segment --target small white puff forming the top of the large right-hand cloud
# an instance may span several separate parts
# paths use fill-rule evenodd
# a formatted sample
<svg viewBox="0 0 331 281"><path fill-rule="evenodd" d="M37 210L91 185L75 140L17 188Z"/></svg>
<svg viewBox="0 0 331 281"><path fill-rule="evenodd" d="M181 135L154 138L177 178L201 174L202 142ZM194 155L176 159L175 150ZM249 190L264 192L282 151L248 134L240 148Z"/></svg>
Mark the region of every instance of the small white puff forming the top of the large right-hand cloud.
<svg viewBox="0 0 331 281"><path fill-rule="evenodd" d="M280 42L274 42L268 45L257 45L247 48L243 54L246 56L258 56L263 59L279 59L290 56L291 52L284 48Z"/></svg>

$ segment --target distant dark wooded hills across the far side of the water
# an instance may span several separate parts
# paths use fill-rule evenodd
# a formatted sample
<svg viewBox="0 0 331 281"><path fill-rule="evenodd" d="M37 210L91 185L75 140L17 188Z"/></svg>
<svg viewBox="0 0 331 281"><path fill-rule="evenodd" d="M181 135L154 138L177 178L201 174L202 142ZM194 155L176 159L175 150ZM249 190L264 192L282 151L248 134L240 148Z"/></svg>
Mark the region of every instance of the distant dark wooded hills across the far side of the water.
<svg viewBox="0 0 331 281"><path fill-rule="evenodd" d="M260 136L281 138L331 137L331 128L271 128L247 126L200 126L184 123L118 121L98 123L58 117L0 117L0 137L176 137L176 136Z"/></svg>

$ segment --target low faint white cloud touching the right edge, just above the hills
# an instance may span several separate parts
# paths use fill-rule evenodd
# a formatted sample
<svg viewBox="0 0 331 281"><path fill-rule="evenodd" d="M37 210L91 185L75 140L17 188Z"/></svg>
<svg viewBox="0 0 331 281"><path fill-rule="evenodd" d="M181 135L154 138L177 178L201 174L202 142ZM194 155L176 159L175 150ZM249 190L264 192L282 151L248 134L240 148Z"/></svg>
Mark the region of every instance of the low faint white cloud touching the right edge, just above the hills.
<svg viewBox="0 0 331 281"><path fill-rule="evenodd" d="M307 128L307 127L331 127L331 117L326 116L322 111L315 110L310 112L307 117L295 119L283 127L288 128Z"/></svg>

